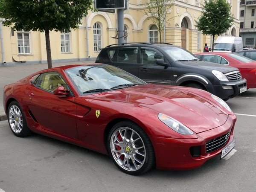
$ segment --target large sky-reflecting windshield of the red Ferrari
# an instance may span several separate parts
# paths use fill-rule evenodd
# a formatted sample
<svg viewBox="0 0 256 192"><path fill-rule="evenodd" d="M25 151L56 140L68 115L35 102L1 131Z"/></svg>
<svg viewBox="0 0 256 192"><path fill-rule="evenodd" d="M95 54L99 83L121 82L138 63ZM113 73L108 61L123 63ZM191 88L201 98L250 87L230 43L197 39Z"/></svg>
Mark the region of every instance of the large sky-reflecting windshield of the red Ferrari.
<svg viewBox="0 0 256 192"><path fill-rule="evenodd" d="M90 90L110 90L113 87L125 84L145 84L144 81L111 65L91 65L73 67L65 70L75 84L77 90L82 94ZM99 91L98 91L99 92Z"/></svg>

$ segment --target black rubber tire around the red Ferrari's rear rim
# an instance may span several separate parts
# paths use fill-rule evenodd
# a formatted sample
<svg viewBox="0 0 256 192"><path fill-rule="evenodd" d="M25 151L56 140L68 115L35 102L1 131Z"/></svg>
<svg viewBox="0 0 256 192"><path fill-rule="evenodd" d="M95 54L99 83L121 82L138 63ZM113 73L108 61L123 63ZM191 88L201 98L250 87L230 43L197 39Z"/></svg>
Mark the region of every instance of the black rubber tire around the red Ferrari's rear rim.
<svg viewBox="0 0 256 192"><path fill-rule="evenodd" d="M17 108L19 108L21 116L22 116L23 125L22 125L21 131L19 133L16 133L15 131L12 130L12 127L11 127L11 124L10 124L10 121L9 121L9 119L10 119L9 118L9 111L10 111L10 108L14 105L17 106ZM31 131L30 131L30 129L29 129L27 123L26 123L26 117L23 113L22 108L20 107L20 104L17 101L12 101L10 103L10 105L8 106L7 117L8 117L9 127L11 128L12 133L15 134L15 136L17 136L17 137L27 137L31 134Z"/></svg>

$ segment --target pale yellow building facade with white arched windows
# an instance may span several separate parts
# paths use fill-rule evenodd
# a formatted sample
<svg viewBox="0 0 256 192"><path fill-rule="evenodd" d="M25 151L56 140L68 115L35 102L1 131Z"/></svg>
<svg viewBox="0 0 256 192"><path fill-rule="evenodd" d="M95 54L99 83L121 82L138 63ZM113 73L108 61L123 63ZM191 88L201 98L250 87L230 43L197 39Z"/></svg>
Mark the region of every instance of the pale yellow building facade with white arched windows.
<svg viewBox="0 0 256 192"><path fill-rule="evenodd" d="M125 34L128 33L126 42L160 42L159 32L143 13L147 1L130 0L129 9L124 14ZM239 36L239 0L228 1L232 5L235 21L223 35ZM166 43L182 46L192 53L202 52L205 43L211 47L210 36L202 35L195 27L195 20L200 17L202 7L203 0L175 0L172 9L167 10L168 17L177 17L166 24ZM111 38L116 33L117 12L89 12L82 19L79 29L50 32L52 62L95 60L101 48L117 43L117 39ZM3 26L2 40L6 64L47 63L44 33L17 32Z"/></svg>

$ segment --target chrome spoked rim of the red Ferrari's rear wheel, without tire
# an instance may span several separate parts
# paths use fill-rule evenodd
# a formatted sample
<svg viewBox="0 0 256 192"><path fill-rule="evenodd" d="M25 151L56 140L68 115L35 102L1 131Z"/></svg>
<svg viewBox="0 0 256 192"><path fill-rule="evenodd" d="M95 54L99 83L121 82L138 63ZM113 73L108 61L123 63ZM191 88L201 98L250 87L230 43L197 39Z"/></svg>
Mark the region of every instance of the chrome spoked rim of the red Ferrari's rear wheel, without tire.
<svg viewBox="0 0 256 192"><path fill-rule="evenodd" d="M9 123L12 131L20 133L23 127L23 120L20 109L17 105L12 105L9 109Z"/></svg>

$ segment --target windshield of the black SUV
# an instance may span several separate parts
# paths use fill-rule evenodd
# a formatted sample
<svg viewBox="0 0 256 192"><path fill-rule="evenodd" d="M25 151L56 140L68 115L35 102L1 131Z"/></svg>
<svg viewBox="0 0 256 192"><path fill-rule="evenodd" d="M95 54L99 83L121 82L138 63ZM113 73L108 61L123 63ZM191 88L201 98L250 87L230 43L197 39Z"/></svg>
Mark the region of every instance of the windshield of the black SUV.
<svg viewBox="0 0 256 192"><path fill-rule="evenodd" d="M199 60L195 55L180 47L163 47L163 50L175 61Z"/></svg>

